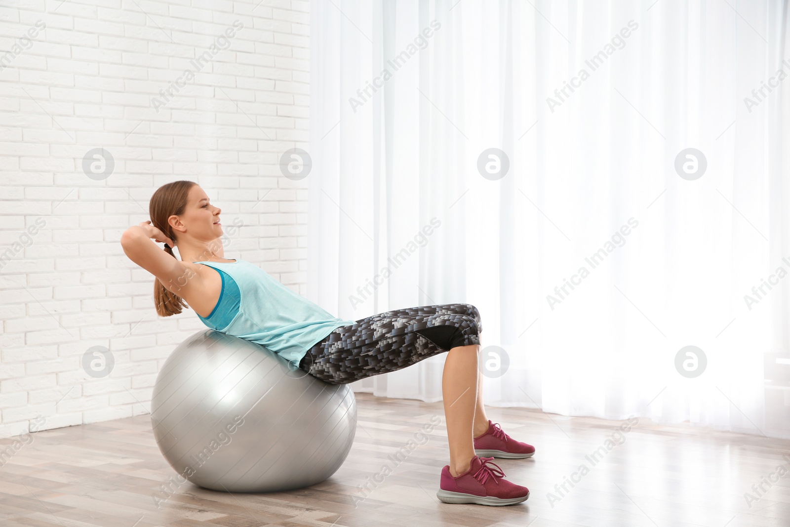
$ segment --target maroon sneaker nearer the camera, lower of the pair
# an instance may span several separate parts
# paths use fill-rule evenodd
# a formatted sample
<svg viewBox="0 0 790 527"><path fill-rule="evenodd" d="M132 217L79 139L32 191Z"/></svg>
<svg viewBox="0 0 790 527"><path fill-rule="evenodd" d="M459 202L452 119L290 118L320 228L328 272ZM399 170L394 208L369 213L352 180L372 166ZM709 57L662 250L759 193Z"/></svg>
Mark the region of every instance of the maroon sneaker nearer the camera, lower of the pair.
<svg viewBox="0 0 790 527"><path fill-rule="evenodd" d="M469 469L458 477L453 477L450 465L445 465L436 497L444 503L477 505L514 505L529 498L529 489L505 480L505 472L493 459L472 457Z"/></svg>

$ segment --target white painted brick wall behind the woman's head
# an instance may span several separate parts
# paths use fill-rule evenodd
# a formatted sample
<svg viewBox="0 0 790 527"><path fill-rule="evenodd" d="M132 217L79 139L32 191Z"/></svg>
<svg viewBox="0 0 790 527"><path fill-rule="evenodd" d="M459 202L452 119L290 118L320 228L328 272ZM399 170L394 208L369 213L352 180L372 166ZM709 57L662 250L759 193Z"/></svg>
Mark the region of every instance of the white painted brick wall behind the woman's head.
<svg viewBox="0 0 790 527"><path fill-rule="evenodd" d="M309 6L2 2L0 438L39 414L33 429L148 413L165 357L205 328L191 310L158 317L153 277L119 243L164 183L199 183L226 231L243 221L225 256L305 294L307 183L281 175L279 160L307 148ZM229 47L217 40L228 28ZM193 66L215 42L224 49ZM156 111L152 98L186 69L194 79ZM95 148L115 159L107 179L82 169ZM93 346L111 350L110 375L82 369Z"/></svg>

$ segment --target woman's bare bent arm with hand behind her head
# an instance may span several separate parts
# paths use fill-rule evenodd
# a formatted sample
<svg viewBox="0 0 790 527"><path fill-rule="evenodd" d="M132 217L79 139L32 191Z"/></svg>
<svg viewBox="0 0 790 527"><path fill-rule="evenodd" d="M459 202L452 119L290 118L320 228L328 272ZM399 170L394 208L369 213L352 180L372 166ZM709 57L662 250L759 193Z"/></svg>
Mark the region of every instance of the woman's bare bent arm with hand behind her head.
<svg viewBox="0 0 790 527"><path fill-rule="evenodd" d="M123 232L121 247L132 262L158 278L171 292L184 298L190 284L194 282L190 279L198 278L198 275L186 267L184 262L161 250L151 241L152 238L168 245L172 243L159 229L144 221Z"/></svg>

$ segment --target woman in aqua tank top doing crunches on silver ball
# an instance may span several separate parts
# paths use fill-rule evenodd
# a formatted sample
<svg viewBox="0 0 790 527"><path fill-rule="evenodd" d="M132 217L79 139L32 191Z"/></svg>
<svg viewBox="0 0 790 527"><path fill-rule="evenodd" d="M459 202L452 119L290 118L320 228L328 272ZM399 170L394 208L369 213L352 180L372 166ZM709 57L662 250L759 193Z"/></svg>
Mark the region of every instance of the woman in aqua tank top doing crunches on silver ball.
<svg viewBox="0 0 790 527"><path fill-rule="evenodd" d="M333 317L251 262L224 257L221 209L197 183L161 186L151 220L126 230L126 255L156 277L156 312L191 307L209 328L257 342L325 382L344 384L397 371L447 352L442 397L450 465L438 499L512 505L529 490L504 479L494 457L531 457L535 449L491 423L478 370L480 313L468 303L386 311L357 321ZM164 251L152 243L165 243ZM179 248L181 259L172 247ZM490 457L483 457L490 456Z"/></svg>

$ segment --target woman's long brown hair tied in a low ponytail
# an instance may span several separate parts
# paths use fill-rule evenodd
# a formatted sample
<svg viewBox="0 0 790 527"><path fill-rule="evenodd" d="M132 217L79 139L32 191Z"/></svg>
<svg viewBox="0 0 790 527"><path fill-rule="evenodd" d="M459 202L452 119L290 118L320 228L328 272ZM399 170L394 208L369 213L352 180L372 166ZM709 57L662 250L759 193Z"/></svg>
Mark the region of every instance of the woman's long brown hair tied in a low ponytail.
<svg viewBox="0 0 790 527"><path fill-rule="evenodd" d="M149 201L151 224L174 242L178 240L175 239L175 232L173 232L173 228L167 219L170 216L180 216L184 213L190 189L197 184L194 181L186 180L166 183L156 189L151 196L151 201ZM173 248L168 246L167 243L164 244L164 250L175 258ZM153 299L156 303L156 313L160 317L179 314L182 307L189 307L179 295L165 288L159 281L159 278L155 278L153 282Z"/></svg>

